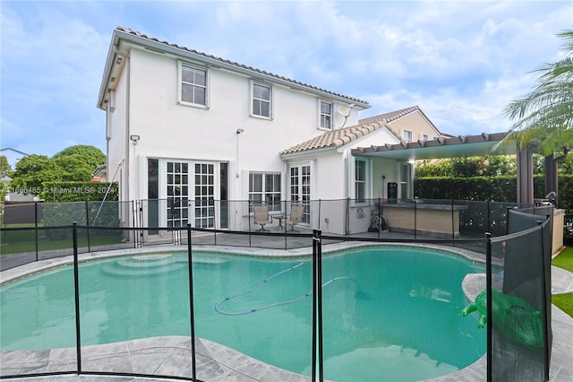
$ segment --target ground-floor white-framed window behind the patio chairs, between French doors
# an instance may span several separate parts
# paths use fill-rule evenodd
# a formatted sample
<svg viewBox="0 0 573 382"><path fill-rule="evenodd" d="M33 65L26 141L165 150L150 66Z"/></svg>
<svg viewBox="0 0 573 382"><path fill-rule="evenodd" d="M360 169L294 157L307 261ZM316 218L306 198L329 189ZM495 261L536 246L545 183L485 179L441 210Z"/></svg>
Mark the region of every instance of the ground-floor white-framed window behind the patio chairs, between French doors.
<svg viewBox="0 0 573 382"><path fill-rule="evenodd" d="M280 178L279 172L250 172L250 204L265 204L269 207L269 211L281 211Z"/></svg>

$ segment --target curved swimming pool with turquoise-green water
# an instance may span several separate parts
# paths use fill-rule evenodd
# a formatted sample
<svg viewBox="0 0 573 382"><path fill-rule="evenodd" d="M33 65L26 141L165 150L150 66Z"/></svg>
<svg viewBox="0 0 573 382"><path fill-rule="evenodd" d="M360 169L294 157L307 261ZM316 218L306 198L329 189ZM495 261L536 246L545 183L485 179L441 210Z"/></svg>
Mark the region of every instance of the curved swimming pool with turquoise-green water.
<svg viewBox="0 0 573 382"><path fill-rule="evenodd" d="M458 317L461 282L476 272L483 268L422 247L325 254L325 378L419 380L479 359L485 332L476 318ZM81 264L81 343L189 335L187 273L184 253ZM194 253L193 276L197 336L310 375L309 257ZM0 295L3 350L75 345L72 266L11 282Z"/></svg>

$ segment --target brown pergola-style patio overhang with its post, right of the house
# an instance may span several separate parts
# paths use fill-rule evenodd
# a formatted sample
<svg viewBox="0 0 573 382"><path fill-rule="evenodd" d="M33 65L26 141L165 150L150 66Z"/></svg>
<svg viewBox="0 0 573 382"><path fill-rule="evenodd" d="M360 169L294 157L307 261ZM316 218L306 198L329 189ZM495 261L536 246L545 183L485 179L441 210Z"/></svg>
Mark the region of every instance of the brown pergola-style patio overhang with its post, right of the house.
<svg viewBox="0 0 573 382"><path fill-rule="evenodd" d="M519 150L517 144L497 143L508 133L460 135L438 138L432 141L384 144L381 146L357 147L352 155L365 158L386 158L395 161L419 161L443 158L464 158L484 155L517 155L517 203L534 203L533 153L534 150Z"/></svg>

